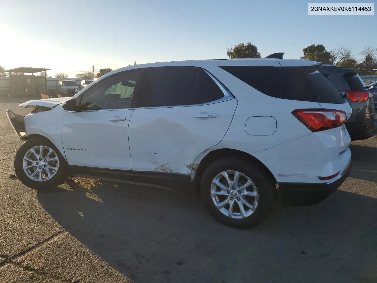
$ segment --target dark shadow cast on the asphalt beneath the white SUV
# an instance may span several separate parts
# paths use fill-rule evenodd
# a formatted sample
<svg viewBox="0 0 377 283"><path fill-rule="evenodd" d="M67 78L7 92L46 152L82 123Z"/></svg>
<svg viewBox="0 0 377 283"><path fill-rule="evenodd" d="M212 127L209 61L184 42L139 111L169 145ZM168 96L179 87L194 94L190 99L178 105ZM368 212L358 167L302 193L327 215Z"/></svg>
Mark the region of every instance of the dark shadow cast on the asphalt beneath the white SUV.
<svg viewBox="0 0 377 283"><path fill-rule="evenodd" d="M64 229L137 283L377 278L373 197L338 190L315 206L278 205L263 225L238 230L213 220L196 194L101 181L72 187L37 196Z"/></svg>

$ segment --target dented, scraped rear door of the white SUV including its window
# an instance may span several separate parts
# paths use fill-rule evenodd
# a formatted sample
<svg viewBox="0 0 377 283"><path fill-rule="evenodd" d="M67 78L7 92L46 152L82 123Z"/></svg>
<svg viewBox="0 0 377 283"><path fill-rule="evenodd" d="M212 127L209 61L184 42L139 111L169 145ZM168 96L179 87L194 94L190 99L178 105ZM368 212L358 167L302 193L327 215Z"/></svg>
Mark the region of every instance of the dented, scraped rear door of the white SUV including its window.
<svg viewBox="0 0 377 283"><path fill-rule="evenodd" d="M224 138L236 106L202 69L147 71L129 123L132 170L189 174L195 158Z"/></svg>

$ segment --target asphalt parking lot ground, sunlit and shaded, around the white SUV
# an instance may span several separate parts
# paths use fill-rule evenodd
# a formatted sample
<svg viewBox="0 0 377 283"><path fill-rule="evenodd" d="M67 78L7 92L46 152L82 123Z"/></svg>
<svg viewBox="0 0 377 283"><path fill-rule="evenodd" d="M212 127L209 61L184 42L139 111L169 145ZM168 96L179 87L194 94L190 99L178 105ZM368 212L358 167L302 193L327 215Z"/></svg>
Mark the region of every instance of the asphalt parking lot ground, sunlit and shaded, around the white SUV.
<svg viewBox="0 0 377 283"><path fill-rule="evenodd" d="M0 282L377 282L377 138L307 207L277 204L257 228L217 223L196 194L75 178L49 192L14 174L22 144L0 98Z"/></svg>

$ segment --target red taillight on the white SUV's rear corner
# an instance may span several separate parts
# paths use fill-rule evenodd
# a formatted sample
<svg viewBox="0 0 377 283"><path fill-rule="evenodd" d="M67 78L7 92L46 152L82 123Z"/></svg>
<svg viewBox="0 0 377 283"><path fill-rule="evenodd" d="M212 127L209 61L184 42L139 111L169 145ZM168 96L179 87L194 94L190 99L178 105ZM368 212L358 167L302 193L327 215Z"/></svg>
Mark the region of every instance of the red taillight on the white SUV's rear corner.
<svg viewBox="0 0 377 283"><path fill-rule="evenodd" d="M312 132L339 127L347 120L346 112L334 109L296 109L292 114Z"/></svg>

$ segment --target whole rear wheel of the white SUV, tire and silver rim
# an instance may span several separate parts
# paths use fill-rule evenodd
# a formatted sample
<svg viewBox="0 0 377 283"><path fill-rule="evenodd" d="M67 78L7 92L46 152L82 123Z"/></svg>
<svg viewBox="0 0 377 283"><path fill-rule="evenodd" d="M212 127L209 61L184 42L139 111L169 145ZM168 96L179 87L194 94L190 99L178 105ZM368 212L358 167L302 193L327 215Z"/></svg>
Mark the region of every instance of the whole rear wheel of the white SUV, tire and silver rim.
<svg viewBox="0 0 377 283"><path fill-rule="evenodd" d="M225 190L221 189L218 185L213 185L215 177L219 178L218 180L222 184L228 183L225 177L218 177L222 176L221 173L225 171L228 171L227 174L230 181L232 181L232 171L235 173L233 174L233 180L234 176L238 174L237 172L243 174L243 176L239 174L241 177L239 177L239 185L237 185L237 188L242 189L241 185L246 183L247 178L252 181L254 185L247 186L247 192L244 191L245 189L242 189L241 191L236 188L234 190L229 188L229 186L225 186L225 188L229 188L229 190ZM224 186L222 186L222 188L224 188ZM214 190L216 190L216 192ZM258 169L253 163L240 158L230 157L213 161L204 171L200 184L202 200L208 212L220 223L239 229L253 228L267 218L269 212L274 206L274 190L274 181L263 171ZM218 194L218 191L221 192L222 195L215 195L215 200L213 200L211 194ZM239 194L239 192L242 194ZM218 205L221 205L223 200L230 200L233 202L231 200L231 195L233 195L233 201L235 202L233 204L233 209L230 212L230 217L225 215L229 213L230 204L226 205L222 208L222 211L220 211L216 208L214 201L216 201ZM244 205L244 200L247 200L247 204L251 205L250 207L253 209ZM244 208L243 216L241 215L242 212L239 203L242 203L241 206ZM246 209L247 211L245 211ZM228 212L226 212L226 210Z"/></svg>

